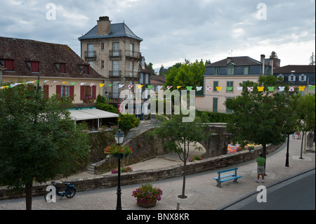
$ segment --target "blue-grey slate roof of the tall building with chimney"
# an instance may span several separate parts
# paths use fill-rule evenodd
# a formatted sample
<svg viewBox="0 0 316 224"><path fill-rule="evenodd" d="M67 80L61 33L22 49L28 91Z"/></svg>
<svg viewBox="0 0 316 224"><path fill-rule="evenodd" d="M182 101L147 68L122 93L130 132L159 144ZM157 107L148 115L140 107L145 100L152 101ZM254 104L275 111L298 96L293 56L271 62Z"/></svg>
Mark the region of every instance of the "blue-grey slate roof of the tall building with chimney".
<svg viewBox="0 0 316 224"><path fill-rule="evenodd" d="M130 37L143 41L140 37L137 37L124 22L111 24L111 32L107 35L98 35L98 25L93 27L84 36L79 37L79 41L83 39L97 39L97 38L112 38L112 37Z"/></svg>

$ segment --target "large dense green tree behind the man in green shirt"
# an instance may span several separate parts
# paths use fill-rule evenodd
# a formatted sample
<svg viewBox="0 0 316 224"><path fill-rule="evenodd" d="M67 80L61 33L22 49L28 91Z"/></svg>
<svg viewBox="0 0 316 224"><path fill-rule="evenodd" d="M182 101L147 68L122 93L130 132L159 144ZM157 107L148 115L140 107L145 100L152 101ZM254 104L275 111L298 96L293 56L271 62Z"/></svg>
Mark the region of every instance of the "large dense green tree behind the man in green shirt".
<svg viewBox="0 0 316 224"><path fill-rule="evenodd" d="M227 130L234 135L235 142L249 140L263 145L265 158L266 145L284 143L287 133L294 130L298 95L289 92L289 88L277 92L277 78L272 75L259 77L258 83L247 81L240 86L244 87L242 95L225 101L232 110ZM249 92L248 86L254 87L254 91ZM258 91L258 86L263 86L264 91ZM275 87L275 91L268 91L268 87Z"/></svg>

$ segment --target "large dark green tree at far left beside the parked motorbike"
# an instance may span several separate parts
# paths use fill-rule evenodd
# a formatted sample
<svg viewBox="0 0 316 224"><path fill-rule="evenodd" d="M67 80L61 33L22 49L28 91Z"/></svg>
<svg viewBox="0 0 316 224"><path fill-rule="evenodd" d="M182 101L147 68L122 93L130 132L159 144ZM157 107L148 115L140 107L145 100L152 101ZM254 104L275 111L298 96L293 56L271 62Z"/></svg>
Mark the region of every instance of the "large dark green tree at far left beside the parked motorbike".
<svg viewBox="0 0 316 224"><path fill-rule="evenodd" d="M0 182L22 190L32 209L32 182L69 176L88 157L88 136L70 118L70 100L32 85L0 91Z"/></svg>

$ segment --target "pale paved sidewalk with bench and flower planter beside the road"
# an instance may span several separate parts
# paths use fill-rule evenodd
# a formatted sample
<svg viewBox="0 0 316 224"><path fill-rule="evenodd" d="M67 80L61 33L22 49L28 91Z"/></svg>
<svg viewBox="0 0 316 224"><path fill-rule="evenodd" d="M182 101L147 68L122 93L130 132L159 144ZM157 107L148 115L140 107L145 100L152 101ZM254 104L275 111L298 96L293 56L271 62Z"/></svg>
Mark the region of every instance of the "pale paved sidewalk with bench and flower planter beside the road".
<svg viewBox="0 0 316 224"><path fill-rule="evenodd" d="M314 147L315 149L315 147ZM215 210L225 204L229 204L249 192L256 191L258 185L271 185L279 180L294 176L302 171L315 168L315 152L303 154L304 159L299 159L301 152L301 140L292 139L289 143L289 167L284 166L286 161L287 143L284 143L275 152L267 155L265 183L256 183L256 162L244 162L235 166L226 167L230 169L238 167L238 174L242 176L238 183L227 181L222 187L216 187L216 181L212 178L217 176L217 170L197 173L187 176L185 185L185 195L187 199L179 199L182 192L183 177L155 181L154 186L160 187L163 191L162 200L157 202L157 206L146 210L175 210L177 202L180 202L180 210ZM198 152L192 152L192 155ZM202 153L202 152L199 152ZM159 167L182 164L177 154L167 154L154 159L133 164L134 171L143 169L155 169ZM67 178L86 178L93 176L91 173L79 173L76 176ZM137 206L136 199L132 197L132 192L139 185L126 185L121 187L121 206L124 210L142 210ZM43 197L33 199L32 208L34 210L114 210L116 208L117 187L101 190L91 190L88 192L77 192L72 199L58 200L56 203L47 203ZM0 201L2 209L25 209L25 199L15 199Z"/></svg>

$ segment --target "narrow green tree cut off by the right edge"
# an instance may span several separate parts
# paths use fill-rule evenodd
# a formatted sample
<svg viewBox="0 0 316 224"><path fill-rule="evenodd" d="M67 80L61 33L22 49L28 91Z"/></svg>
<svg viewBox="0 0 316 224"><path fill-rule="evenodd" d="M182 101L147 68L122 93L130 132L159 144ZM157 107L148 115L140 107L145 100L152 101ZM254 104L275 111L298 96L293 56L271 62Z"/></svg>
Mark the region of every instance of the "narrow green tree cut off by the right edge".
<svg viewBox="0 0 316 224"><path fill-rule="evenodd" d="M315 130L315 95L308 94L298 100L296 104L298 114L297 127L302 131L301 159L303 159L303 140L308 131Z"/></svg>

